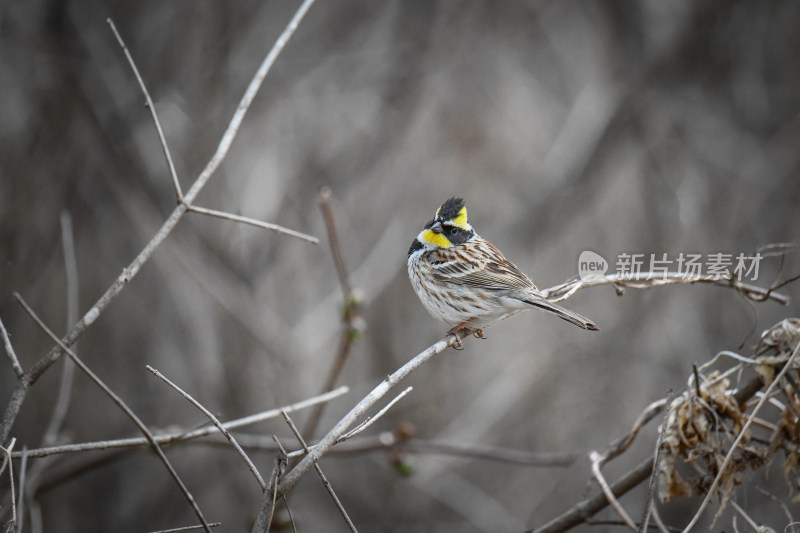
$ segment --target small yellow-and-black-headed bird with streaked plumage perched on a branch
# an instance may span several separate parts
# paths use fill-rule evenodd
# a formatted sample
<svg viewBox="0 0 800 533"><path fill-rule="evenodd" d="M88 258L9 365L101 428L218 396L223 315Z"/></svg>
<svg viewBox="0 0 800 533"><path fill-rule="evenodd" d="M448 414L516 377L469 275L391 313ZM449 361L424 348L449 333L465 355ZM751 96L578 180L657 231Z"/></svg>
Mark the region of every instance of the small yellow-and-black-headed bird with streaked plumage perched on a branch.
<svg viewBox="0 0 800 533"><path fill-rule="evenodd" d="M461 198L446 200L411 243L408 277L422 305L452 325L448 333L456 336L466 328L483 337L483 328L533 308L583 329L599 329L588 318L547 301L528 276L475 233Z"/></svg>

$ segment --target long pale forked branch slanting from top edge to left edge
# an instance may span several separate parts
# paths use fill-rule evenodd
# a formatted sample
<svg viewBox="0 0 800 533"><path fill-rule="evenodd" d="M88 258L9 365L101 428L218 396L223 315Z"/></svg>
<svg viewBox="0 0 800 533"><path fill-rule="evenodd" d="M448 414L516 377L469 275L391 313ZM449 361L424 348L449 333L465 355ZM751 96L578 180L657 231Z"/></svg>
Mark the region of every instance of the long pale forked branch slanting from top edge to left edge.
<svg viewBox="0 0 800 533"><path fill-rule="evenodd" d="M161 228L159 228L153 238L150 239L150 242L148 242L147 245L145 245L145 247L136 256L136 258L134 258L134 260L122 270L122 273L117 276L117 279L114 280L108 289L106 289L106 292L103 293L103 295L97 300L97 302L95 302L94 305L92 305L86 314L84 314L78 323L75 324L75 326L70 330L70 332L61 339L61 344L65 346L71 346L74 344L78 337L80 337L83 332L95 322L95 320L97 320L97 318L106 310L109 304L119 295L120 292L122 292L125 287L127 287L130 281L136 276L136 274L138 274L139 270L141 270L142 266L150 259L150 257L152 257L156 249L158 249L161 243L164 242L167 236L181 220L189 208L189 205L194 202L195 198L197 198L197 195L200 194L200 191L203 189L203 187L205 187L209 178L211 178L214 172L216 172L217 168L219 168L219 165L228 155L231 144L233 143L234 138L236 138L236 135L239 132L239 127L241 126L242 121L244 120L244 117L250 108L250 104L253 102L253 99L258 93L264 78L272 68L272 65L275 63L275 60L278 58L278 55L283 50L284 46L286 46L286 43L291 38L292 34L294 34L303 16L313 3L314 0L305 0L303 2L295 15L289 21L289 24L281 33L280 37L278 37L278 40L272 46L272 49L270 49L269 53L264 58L261 66L259 66L252 80L245 89L244 95L242 95L239 105L236 107L236 110L234 111L233 116L228 123L228 127L222 134L219 144L217 145L217 150L214 152L214 155L211 156L211 159L200 172L200 175L197 176L197 179L184 195L184 201L175 207L169 218L164 221L164 223L161 225ZM5 442L5 440L8 438L8 435L11 432L11 427L14 425L14 421L19 414L19 410L25 401L25 397L27 396L31 385L33 385L41 377L41 375L61 357L61 354L64 353L64 350L61 348L61 344L54 346L44 357L37 361L27 373L20 377L20 383L12 393L11 399L9 400L5 412L3 413L2 424L0 424L0 442Z"/></svg>

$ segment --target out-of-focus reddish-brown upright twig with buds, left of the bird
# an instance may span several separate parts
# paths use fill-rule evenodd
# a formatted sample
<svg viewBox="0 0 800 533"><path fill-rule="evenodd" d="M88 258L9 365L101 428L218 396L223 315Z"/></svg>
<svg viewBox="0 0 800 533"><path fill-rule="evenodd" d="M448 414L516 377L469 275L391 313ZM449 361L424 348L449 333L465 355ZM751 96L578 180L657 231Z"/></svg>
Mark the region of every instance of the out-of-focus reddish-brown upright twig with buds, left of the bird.
<svg viewBox="0 0 800 533"><path fill-rule="evenodd" d="M344 364L347 362L347 357L350 354L350 348L353 342L361 336L363 323L361 319L361 298L353 291L350 285L350 274L347 270L347 263L344 261L344 254L339 242L339 234L336 231L336 221L333 216L333 207L331 207L331 190L329 187L322 187L317 195L317 203L319 204L320 211L322 211L322 219L325 221L325 229L328 233L328 242L331 246L331 255L333 255L333 263L336 266L336 274L339 277L339 285L342 287L342 297L344 298L344 305L342 306L342 332L339 340L339 347L336 351L336 358L333 360L328 378L323 386L323 391L333 389L342 373ZM319 421L322 418L322 412L325 410L325 405L320 404L308 417L306 422L305 431L303 434L307 439L314 436L319 426Z"/></svg>

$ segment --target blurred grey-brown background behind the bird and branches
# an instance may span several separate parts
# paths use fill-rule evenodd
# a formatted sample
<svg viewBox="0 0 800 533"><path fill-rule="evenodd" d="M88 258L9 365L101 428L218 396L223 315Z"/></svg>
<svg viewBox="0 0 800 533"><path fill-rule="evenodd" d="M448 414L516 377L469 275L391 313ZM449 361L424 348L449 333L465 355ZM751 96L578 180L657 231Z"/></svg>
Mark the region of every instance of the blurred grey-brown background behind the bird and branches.
<svg viewBox="0 0 800 533"><path fill-rule="evenodd" d="M58 333L71 326L62 214L71 219L82 315L175 206L152 121L106 18L149 88L186 190L298 5L0 6L0 317L23 367L52 343L12 291ZM366 330L339 379L351 391L327 406L317 437L447 329L417 300L405 261L449 196L465 198L476 230L541 288L576 275L583 250L613 270L621 252L750 255L793 242L798 24L800 4L792 2L320 2L197 200L310 233L320 244L189 214L81 337L78 353L154 430L205 419L146 364L223 420L319 393L342 307L317 205L323 185L332 191L351 282L364 294ZM766 258L756 284L798 269L794 255ZM367 430L410 422L425 440L576 452L572 467L409 455L411 474L401 475L381 451L331 454L322 467L362 531L541 525L593 489L588 452L627 432L668 390L683 390L692 362L724 349L752 353L763 329L797 316L798 285L782 292L792 297L788 307L703 285L628 290L622 298L610 287L581 290L566 305L600 332L543 313L516 316L417 370L404 382L413 392ZM62 365L31 390L12 431L16 450L42 444ZM14 387L4 357L1 405ZM294 419L302 427L308 416ZM607 467L610 479L652 453L656 424ZM283 421L246 431L277 434L297 448ZM58 441L129 436L138 436L130 420L76 374ZM260 491L230 448L167 453L209 520L224 531L249 530ZM251 454L268 475L274 454ZM47 461L36 467L26 530L196 522L152 453ZM59 479L63 472L70 475ZM7 521L5 476L2 483ZM786 494L779 471L755 483ZM780 529L788 523L769 497L738 494L753 518ZM289 501L300 531L345 531L315 474ZM644 490L622 499L637 518L643 502ZM696 505L669 504L661 515L682 526Z"/></svg>

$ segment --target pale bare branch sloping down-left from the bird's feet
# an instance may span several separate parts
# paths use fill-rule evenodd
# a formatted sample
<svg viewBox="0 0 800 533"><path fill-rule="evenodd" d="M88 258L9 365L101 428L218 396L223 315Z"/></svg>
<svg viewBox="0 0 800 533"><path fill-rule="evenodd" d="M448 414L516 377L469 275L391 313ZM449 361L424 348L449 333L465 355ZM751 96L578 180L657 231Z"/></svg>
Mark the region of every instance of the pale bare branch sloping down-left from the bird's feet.
<svg viewBox="0 0 800 533"><path fill-rule="evenodd" d="M466 337L467 332L462 330L459 336ZM387 392L395 387L400 381L406 378L411 372L426 361L431 359L436 354L442 353L448 347L453 346L458 341L458 336L448 335L439 342L429 346L426 350L417 354L413 359L401 366L399 369L390 374L386 379L381 381L369 394L359 401L350 412L342 417L333 428L322 438L322 440L300 461L297 466L290 470L283 481L281 482L278 490L281 494L286 494L292 487L294 487L300 478L316 463L320 457L325 455L328 449L336 444L339 437L345 434L351 425L360 417L367 409L372 407L378 400L383 398Z"/></svg>

